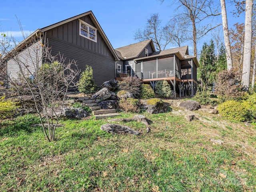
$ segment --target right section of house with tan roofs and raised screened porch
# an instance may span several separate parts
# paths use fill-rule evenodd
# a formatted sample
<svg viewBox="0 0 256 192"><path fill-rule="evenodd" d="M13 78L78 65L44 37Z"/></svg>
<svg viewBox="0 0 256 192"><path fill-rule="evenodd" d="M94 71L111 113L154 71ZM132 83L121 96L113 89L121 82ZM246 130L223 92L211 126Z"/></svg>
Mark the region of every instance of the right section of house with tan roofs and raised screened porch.
<svg viewBox="0 0 256 192"><path fill-rule="evenodd" d="M197 89L196 56L190 56L188 46L156 51L152 40L131 44L115 49L119 57L116 66L116 79L124 76L137 76L143 83L154 88L158 80L167 80L180 97L194 96Z"/></svg>

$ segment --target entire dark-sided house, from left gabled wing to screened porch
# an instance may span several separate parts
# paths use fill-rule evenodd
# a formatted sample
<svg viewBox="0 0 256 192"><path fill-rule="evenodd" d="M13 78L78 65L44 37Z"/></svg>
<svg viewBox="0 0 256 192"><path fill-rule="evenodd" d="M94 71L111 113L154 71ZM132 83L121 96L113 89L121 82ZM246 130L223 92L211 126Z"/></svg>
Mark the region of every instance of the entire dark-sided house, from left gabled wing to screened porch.
<svg viewBox="0 0 256 192"><path fill-rule="evenodd" d="M145 40L114 50L92 11L36 30L15 50L33 71L44 62L42 45L46 43L52 55L60 53L66 60L75 60L81 71L92 66L97 86L110 79L137 76L152 88L158 80L167 80L180 97L189 90L191 96L196 92L199 64L196 56L188 54L188 46L156 51L152 40ZM11 52L5 56L6 68L8 76L15 78L19 67Z"/></svg>

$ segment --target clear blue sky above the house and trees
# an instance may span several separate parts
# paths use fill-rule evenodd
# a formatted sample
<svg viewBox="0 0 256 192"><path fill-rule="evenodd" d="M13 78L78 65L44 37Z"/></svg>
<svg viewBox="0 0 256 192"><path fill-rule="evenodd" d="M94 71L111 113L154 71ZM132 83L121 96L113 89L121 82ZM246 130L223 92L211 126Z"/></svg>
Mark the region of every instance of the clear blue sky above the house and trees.
<svg viewBox="0 0 256 192"><path fill-rule="evenodd" d="M134 40L134 32L144 28L146 19L153 13L159 13L162 24L175 14L177 4L171 0L161 3L159 0L8 0L2 1L0 11L0 32L12 32L12 35L22 40L18 20L25 34L34 32L60 22L67 18L92 10L100 26L114 48L119 48L138 42ZM233 7L227 5L228 22L231 27L236 22L244 22L244 18L233 18L230 11ZM176 13L177 14L177 13ZM16 18L17 16L17 18ZM221 23L221 16L213 23ZM220 28L222 32L222 28ZM204 41L210 41L210 34L199 42L198 50ZM188 42L186 44L189 44ZM190 43L192 45L192 43ZM190 45L189 45L190 46ZM172 48L172 45L167 48ZM190 46L190 49L192 47ZM190 54L192 51L190 51Z"/></svg>

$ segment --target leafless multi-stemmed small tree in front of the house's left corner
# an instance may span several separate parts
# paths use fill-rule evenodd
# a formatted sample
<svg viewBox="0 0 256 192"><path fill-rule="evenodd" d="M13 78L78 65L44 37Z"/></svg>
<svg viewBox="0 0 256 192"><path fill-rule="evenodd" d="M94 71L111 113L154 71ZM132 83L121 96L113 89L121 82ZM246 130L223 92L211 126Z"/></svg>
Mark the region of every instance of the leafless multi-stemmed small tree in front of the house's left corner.
<svg viewBox="0 0 256 192"><path fill-rule="evenodd" d="M16 98L38 114L44 134L50 142L54 140L68 89L75 86L79 71L74 60L65 61L60 54L52 56L43 37L25 38L22 44L4 55L2 62L8 59L8 64L18 69L18 78L14 78L14 74L5 75ZM33 104L24 102L24 94L32 98Z"/></svg>

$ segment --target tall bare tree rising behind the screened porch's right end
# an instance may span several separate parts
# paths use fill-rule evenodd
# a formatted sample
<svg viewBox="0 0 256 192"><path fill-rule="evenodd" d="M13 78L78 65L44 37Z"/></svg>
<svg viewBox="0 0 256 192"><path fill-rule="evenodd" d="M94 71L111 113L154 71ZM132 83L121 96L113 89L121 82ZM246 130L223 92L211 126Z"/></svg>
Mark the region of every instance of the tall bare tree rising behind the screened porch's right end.
<svg viewBox="0 0 256 192"><path fill-rule="evenodd" d="M164 2L164 0L160 0ZM220 26L221 24L212 26L212 22L207 22L205 26L205 21L211 19L214 16L220 15L218 12L218 6L214 7L213 0L175 0L179 3L176 9L175 18L177 21L186 22L186 27L183 30L188 34L187 39L193 41L194 55L197 55L197 42L203 36L205 36L212 29ZM204 23L204 24L202 24ZM192 27L192 35L191 28Z"/></svg>

